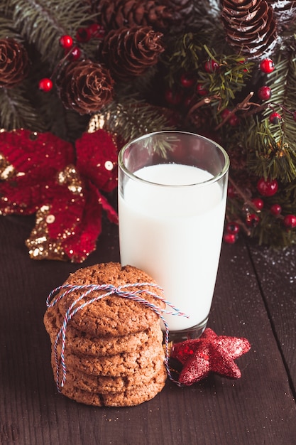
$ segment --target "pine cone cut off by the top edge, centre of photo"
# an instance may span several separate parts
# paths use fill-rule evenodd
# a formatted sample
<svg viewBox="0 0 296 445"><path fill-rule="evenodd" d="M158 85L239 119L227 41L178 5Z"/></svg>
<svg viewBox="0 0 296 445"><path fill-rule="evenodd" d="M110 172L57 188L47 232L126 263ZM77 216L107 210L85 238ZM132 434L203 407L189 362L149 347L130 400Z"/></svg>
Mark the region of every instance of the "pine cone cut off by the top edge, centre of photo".
<svg viewBox="0 0 296 445"><path fill-rule="evenodd" d="M107 31L123 26L152 26L155 30L163 30L168 28L174 17L168 1L101 0L97 9Z"/></svg>

